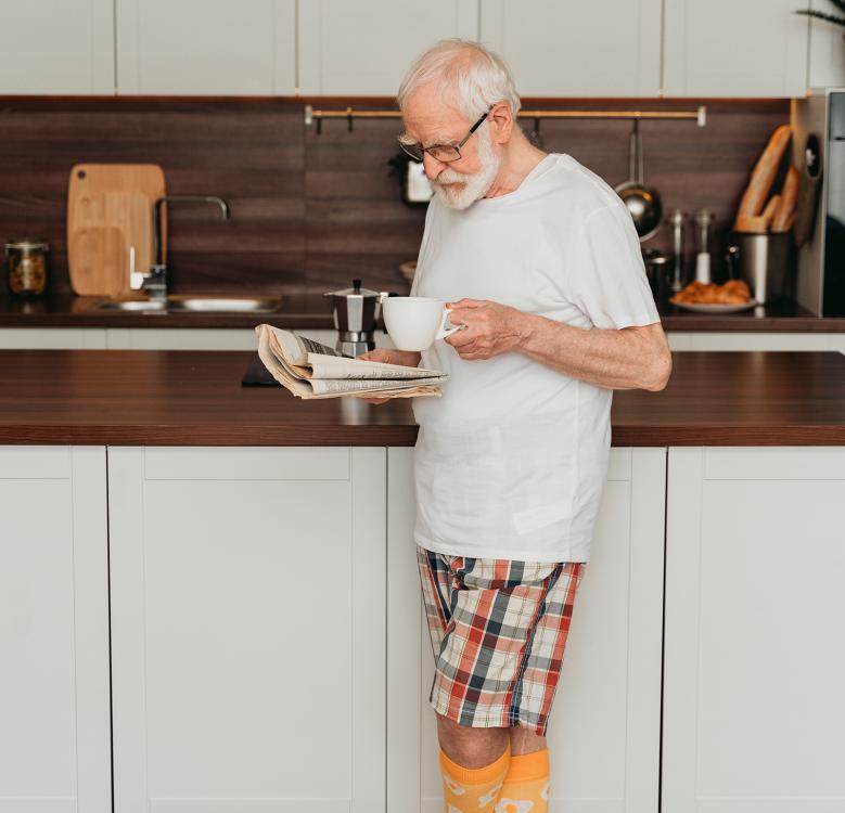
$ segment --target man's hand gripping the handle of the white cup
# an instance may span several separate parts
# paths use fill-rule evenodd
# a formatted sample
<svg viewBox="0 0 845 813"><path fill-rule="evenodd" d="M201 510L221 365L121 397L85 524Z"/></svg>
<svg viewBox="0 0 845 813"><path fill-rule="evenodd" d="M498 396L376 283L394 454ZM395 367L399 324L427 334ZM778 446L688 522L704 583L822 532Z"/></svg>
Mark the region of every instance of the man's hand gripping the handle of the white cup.
<svg viewBox="0 0 845 813"><path fill-rule="evenodd" d="M526 330L526 314L522 311L484 299L461 299L446 307L449 322L464 326L445 339L462 359L491 359L518 350Z"/></svg>

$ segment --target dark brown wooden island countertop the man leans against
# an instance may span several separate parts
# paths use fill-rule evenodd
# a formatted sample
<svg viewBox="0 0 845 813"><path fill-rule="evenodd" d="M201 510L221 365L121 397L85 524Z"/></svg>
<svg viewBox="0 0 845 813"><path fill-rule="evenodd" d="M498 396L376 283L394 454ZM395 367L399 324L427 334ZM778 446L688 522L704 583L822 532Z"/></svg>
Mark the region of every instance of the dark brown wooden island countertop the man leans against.
<svg viewBox="0 0 845 813"><path fill-rule="evenodd" d="M242 387L249 352L0 351L0 443L412 446L410 403ZM845 356L684 352L619 391L614 446L845 446Z"/></svg>

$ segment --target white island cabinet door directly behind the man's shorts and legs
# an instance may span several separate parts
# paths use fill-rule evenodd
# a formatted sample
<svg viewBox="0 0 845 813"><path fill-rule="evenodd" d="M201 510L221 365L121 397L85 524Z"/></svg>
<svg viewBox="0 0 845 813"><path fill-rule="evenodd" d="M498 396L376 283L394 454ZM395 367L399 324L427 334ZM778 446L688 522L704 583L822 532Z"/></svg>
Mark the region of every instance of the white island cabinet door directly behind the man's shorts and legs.
<svg viewBox="0 0 845 813"><path fill-rule="evenodd" d="M440 813L410 449L388 452L387 809ZM551 810L656 813L665 449L614 449L549 723Z"/></svg>

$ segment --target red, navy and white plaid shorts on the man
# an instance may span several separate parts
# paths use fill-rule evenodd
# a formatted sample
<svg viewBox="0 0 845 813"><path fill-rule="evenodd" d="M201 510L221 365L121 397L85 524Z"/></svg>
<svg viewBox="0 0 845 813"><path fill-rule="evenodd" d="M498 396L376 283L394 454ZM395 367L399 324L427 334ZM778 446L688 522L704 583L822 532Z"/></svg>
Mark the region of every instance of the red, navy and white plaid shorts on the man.
<svg viewBox="0 0 845 813"><path fill-rule="evenodd" d="M586 564L472 559L420 545L417 559L434 710L460 725L545 736Z"/></svg>

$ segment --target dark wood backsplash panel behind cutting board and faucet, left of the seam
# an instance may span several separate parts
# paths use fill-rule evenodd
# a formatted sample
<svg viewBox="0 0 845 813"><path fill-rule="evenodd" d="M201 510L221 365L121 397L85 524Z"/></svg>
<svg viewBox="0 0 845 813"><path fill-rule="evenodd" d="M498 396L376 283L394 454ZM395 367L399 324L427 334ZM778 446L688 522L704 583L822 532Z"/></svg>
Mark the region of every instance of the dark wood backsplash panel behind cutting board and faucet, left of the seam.
<svg viewBox="0 0 845 813"><path fill-rule="evenodd" d="M78 162L157 163L172 194L213 194L168 212L174 291L296 289L305 278L300 105L242 100L0 103L0 236L51 245L51 284L69 292L67 176ZM3 281L3 288L5 282Z"/></svg>

